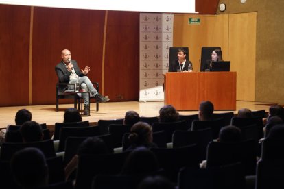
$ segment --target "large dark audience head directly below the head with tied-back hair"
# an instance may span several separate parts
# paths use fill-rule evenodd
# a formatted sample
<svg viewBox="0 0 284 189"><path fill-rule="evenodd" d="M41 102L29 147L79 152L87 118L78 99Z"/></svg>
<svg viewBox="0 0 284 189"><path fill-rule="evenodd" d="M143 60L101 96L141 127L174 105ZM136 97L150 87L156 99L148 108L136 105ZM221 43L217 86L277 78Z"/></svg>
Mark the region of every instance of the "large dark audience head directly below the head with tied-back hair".
<svg viewBox="0 0 284 189"><path fill-rule="evenodd" d="M156 155L145 147L137 147L126 158L126 162L121 170L121 175L132 175L143 177L155 174L159 165Z"/></svg>

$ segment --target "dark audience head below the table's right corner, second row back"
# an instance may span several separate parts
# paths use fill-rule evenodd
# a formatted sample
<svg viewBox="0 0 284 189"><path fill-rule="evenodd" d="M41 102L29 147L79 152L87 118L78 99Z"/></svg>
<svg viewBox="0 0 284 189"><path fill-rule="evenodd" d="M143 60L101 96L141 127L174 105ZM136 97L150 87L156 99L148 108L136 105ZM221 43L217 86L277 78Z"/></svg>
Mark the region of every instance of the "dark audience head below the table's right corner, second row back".
<svg viewBox="0 0 284 189"><path fill-rule="evenodd" d="M235 143L241 141L241 129L234 125L222 127L219 132L218 142Z"/></svg>

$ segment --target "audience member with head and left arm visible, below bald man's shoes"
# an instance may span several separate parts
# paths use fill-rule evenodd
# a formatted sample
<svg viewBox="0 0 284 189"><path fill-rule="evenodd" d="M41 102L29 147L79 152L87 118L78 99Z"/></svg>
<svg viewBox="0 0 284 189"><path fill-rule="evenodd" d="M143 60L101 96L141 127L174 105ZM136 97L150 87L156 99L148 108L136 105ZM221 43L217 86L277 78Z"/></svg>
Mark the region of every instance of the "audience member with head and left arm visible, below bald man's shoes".
<svg viewBox="0 0 284 189"><path fill-rule="evenodd" d="M109 153L108 147L104 141L98 137L88 137L78 148L77 155L74 155L72 160L65 167L65 178L69 179L70 175L78 166L78 157L80 155L98 155Z"/></svg>

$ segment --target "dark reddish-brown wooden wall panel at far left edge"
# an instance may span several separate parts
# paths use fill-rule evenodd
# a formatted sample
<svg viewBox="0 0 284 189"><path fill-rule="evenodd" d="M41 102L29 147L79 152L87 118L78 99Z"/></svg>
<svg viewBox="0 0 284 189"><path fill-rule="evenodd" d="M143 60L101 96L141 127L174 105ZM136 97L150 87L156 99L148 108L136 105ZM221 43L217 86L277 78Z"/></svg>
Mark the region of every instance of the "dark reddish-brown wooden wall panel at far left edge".
<svg viewBox="0 0 284 189"><path fill-rule="evenodd" d="M30 10L0 5L0 106L29 104Z"/></svg>

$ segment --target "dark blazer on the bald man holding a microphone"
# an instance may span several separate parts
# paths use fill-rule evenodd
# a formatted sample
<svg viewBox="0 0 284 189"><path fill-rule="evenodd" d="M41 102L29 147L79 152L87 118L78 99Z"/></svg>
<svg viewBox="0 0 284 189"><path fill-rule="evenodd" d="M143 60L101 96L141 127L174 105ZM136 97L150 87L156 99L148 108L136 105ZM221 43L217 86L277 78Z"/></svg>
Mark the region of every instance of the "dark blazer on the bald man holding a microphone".
<svg viewBox="0 0 284 189"><path fill-rule="evenodd" d="M71 60L72 64L73 64L73 69L75 70L75 73L79 76L79 77L83 77L85 76L81 71L80 68L78 67L78 64L75 60ZM58 77L58 82L59 83L69 83L70 81L70 75L71 72L67 70L65 64L63 61L61 61L59 64L56 65L55 67L56 70L56 74ZM68 86L59 86L59 92L64 92L64 90L67 90Z"/></svg>

